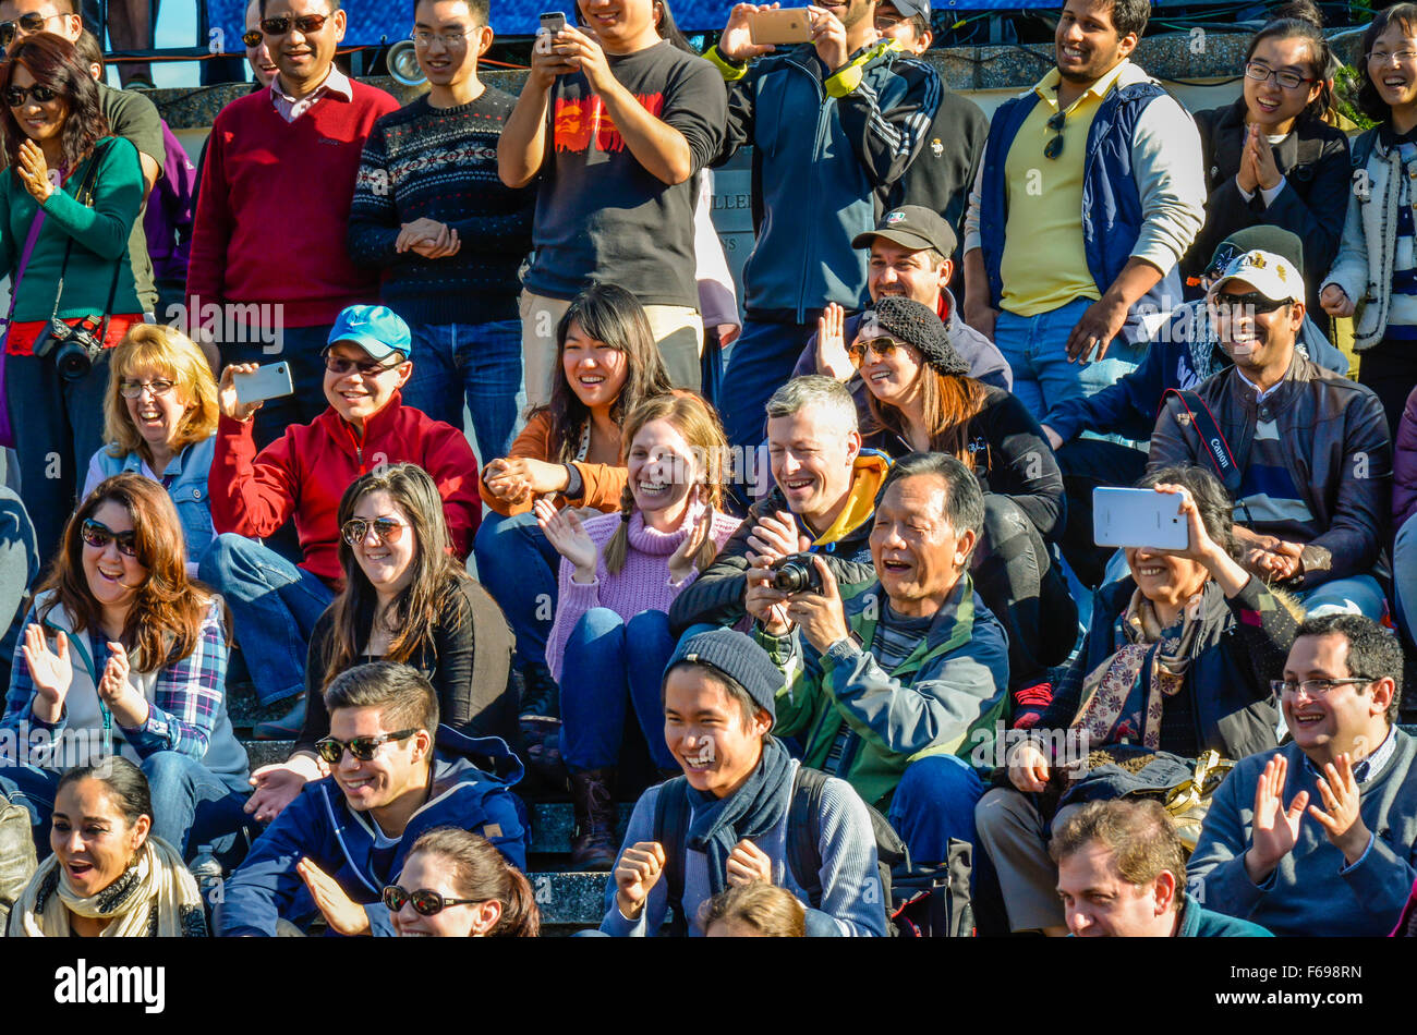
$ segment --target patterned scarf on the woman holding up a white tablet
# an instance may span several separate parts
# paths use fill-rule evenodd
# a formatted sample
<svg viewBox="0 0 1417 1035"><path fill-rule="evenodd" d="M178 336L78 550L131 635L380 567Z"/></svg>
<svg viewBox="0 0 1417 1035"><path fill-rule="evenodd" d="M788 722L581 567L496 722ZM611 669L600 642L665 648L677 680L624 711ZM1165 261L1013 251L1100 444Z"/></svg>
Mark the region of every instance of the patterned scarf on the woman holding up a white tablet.
<svg viewBox="0 0 1417 1035"><path fill-rule="evenodd" d="M1071 728L1085 732L1090 745L1132 743L1141 733L1144 746L1161 749L1163 701L1185 685L1203 595L1202 589L1182 607L1179 627L1162 629L1151 600L1139 589L1132 592L1121 620L1127 646L1083 681L1083 707Z"/></svg>

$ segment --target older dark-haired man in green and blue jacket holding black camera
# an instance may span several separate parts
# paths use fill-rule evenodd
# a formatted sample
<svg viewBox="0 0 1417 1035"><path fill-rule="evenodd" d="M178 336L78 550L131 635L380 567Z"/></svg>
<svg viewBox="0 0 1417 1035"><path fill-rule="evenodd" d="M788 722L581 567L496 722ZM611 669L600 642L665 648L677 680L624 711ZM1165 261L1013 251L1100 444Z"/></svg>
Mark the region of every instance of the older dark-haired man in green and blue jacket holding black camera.
<svg viewBox="0 0 1417 1035"><path fill-rule="evenodd" d="M911 453L877 497L874 582L842 590L820 556L798 592L747 576L758 641L786 675L778 733L886 811L917 864L945 862L951 838L973 842L983 786L966 757L992 755L1007 718L1003 627L969 578L982 524L973 473Z"/></svg>

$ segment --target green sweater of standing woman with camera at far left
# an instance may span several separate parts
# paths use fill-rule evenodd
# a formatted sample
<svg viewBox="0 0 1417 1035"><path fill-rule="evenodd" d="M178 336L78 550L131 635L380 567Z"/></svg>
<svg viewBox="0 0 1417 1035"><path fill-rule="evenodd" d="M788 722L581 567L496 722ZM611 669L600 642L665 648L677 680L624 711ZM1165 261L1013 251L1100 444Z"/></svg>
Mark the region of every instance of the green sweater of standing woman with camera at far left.
<svg viewBox="0 0 1417 1035"><path fill-rule="evenodd" d="M94 147L98 176L94 180L94 205L75 200L94 156L79 163L64 188L44 202L44 225L34 245L30 265L20 279L14 306L17 321L48 320L64 265L64 246L72 238L68 272L64 275L64 299L60 316L101 314L113 283L118 263L118 290L113 313L140 313L142 303L133 286L128 259L128 236L143 204L143 170L137 149L120 137L105 137ZM38 205L20 183L14 170L0 173L0 269L13 278L24 252Z"/></svg>

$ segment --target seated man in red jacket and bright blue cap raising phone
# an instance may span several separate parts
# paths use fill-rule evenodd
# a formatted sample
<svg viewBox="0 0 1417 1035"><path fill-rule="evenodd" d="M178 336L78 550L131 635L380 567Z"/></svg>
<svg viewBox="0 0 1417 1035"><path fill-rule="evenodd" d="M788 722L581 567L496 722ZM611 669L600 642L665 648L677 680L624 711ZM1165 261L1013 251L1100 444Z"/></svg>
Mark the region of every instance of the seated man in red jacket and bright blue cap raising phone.
<svg viewBox="0 0 1417 1035"><path fill-rule="evenodd" d="M339 504L350 483L384 464L417 463L438 486L459 558L468 556L482 521L478 462L468 439L400 399L398 389L414 371L410 350L408 324L388 307L343 310L322 353L329 405L310 423L286 428L259 453L254 415L269 404L238 402L234 384L234 375L251 374L258 364L232 364L221 372L221 419L208 477L218 535L201 556L198 575L231 607L261 704L299 697L295 712L264 724L268 736L282 731L293 736L305 718L310 633L344 582ZM299 566L256 541L292 518L305 555Z"/></svg>

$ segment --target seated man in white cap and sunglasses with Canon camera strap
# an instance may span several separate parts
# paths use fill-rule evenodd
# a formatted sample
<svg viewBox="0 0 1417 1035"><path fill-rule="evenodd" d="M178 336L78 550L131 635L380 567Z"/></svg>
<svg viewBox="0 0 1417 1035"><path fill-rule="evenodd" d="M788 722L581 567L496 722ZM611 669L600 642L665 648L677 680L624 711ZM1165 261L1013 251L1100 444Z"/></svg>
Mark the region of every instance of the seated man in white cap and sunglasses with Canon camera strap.
<svg viewBox="0 0 1417 1035"><path fill-rule="evenodd" d="M1295 351L1304 278L1282 255L1240 255L1207 299L1234 365L1196 387L1202 408L1168 396L1148 470L1217 469L1234 498L1246 568L1294 593L1309 616L1380 619L1372 572L1387 538L1393 471L1382 402ZM1203 430L1207 412L1214 428Z"/></svg>

